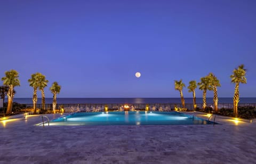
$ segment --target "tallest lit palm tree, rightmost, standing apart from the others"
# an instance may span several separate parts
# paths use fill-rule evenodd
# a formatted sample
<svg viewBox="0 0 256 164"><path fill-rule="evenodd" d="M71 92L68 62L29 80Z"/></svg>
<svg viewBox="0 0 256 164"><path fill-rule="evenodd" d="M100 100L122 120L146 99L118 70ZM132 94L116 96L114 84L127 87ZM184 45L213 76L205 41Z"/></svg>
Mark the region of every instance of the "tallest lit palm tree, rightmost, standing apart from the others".
<svg viewBox="0 0 256 164"><path fill-rule="evenodd" d="M233 70L233 75L230 75L231 82L235 83L235 93L233 97L233 103L234 103L234 116L238 116L237 107L239 102L239 83L246 84L247 80L245 78L246 75L246 69L244 68L244 64L241 64L238 66L238 68L235 68Z"/></svg>

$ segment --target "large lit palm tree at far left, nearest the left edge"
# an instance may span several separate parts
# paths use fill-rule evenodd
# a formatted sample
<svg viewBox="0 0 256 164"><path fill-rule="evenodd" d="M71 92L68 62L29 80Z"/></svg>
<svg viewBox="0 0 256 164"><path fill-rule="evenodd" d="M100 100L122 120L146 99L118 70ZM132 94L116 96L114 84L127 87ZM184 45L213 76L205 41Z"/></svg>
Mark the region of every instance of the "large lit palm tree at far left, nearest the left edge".
<svg viewBox="0 0 256 164"><path fill-rule="evenodd" d="M10 70L5 72L5 77L2 77L2 81L4 85L7 85L8 92L8 105L6 114L10 114L12 112L12 102L14 97L14 87L20 86L19 73L16 70Z"/></svg>

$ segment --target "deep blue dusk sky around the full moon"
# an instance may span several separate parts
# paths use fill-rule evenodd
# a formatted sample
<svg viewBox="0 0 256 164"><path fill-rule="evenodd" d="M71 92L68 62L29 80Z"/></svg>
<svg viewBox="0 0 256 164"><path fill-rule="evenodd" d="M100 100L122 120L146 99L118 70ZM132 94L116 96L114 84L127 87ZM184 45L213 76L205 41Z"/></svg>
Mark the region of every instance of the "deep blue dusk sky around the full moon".
<svg viewBox="0 0 256 164"><path fill-rule="evenodd" d="M255 9L254 0L0 1L0 77L19 72L15 97L32 97L35 72L50 81L46 97L53 81L58 97L179 97L174 80L213 72L219 97L232 97L229 76L243 63L241 97L256 97Z"/></svg>

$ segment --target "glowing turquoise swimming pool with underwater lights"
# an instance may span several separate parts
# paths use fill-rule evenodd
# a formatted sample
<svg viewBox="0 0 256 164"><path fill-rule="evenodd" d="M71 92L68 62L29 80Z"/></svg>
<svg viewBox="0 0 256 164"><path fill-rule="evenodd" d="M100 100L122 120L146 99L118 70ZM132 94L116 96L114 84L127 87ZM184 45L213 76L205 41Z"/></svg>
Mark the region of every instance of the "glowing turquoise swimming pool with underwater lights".
<svg viewBox="0 0 256 164"><path fill-rule="evenodd" d="M205 125L207 120L179 112L81 112L62 116L50 125Z"/></svg>

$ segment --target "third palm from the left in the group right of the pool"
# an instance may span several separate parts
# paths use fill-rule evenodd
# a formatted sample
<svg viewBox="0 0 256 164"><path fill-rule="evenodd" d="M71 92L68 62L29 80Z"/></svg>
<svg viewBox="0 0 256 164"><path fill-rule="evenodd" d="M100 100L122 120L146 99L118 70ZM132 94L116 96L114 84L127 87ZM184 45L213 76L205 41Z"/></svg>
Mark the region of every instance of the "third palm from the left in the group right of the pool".
<svg viewBox="0 0 256 164"><path fill-rule="evenodd" d="M205 76L201 78L201 81L197 83L200 90L203 90L203 109L206 107L206 92L207 90L212 90L211 79L209 76Z"/></svg>

